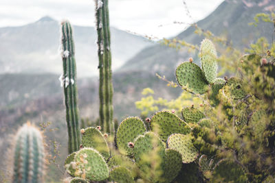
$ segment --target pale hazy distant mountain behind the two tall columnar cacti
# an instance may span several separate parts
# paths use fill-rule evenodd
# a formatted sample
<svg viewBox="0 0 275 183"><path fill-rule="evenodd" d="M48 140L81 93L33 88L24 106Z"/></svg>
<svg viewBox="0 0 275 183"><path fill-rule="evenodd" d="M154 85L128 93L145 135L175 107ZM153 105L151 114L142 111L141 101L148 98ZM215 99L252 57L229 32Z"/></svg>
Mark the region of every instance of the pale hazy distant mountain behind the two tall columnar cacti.
<svg viewBox="0 0 275 183"><path fill-rule="evenodd" d="M98 75L98 57L94 27L74 26L78 76ZM58 53L59 23L49 16L21 27L0 28L0 73L62 72ZM111 27L113 70L144 47L153 45L141 36Z"/></svg>

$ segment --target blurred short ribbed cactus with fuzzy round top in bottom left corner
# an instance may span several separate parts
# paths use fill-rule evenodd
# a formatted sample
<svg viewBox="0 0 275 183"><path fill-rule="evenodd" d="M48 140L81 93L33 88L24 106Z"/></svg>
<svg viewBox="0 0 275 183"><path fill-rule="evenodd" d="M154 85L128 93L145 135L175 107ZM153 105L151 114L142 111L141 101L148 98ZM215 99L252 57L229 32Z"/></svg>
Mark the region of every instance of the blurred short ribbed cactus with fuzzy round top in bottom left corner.
<svg viewBox="0 0 275 183"><path fill-rule="evenodd" d="M41 132L26 123L14 141L12 182L43 182L44 145Z"/></svg>

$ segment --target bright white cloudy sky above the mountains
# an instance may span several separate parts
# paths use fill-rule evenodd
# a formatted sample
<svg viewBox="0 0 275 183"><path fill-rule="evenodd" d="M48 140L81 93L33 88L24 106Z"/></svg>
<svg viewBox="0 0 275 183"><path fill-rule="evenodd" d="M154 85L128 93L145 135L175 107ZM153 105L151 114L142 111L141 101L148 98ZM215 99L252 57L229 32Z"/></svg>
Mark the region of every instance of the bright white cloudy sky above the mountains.
<svg viewBox="0 0 275 183"><path fill-rule="evenodd" d="M174 36L210 14L223 0L109 0L111 25L158 38ZM69 19L74 25L94 26L94 0L1 0L0 27L25 25L42 16ZM162 26L159 26L162 25Z"/></svg>

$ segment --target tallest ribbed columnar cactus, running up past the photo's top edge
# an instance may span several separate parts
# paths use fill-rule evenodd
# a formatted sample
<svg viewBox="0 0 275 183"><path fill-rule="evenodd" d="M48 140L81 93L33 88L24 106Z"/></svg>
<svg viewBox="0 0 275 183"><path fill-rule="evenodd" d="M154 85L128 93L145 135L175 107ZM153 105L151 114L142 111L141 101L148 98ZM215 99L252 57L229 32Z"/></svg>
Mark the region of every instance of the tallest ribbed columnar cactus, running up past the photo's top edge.
<svg viewBox="0 0 275 183"><path fill-rule="evenodd" d="M113 84L111 82L111 47L108 0L96 0L98 32L98 69L100 71L100 123L105 132L113 132Z"/></svg>

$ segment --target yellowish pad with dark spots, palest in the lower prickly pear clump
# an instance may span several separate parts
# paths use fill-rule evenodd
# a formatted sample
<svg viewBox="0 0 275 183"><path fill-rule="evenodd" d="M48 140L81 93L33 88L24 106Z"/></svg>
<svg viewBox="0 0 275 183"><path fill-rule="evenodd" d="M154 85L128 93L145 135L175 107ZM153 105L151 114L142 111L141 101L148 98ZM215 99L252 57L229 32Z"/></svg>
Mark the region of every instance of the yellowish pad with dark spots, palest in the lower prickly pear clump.
<svg viewBox="0 0 275 183"><path fill-rule="evenodd" d="M199 156L198 150L192 144L192 136L184 134L172 134L167 141L167 147L179 151L182 162L193 162Z"/></svg>

